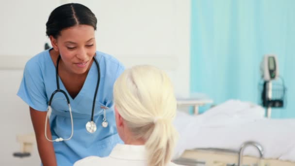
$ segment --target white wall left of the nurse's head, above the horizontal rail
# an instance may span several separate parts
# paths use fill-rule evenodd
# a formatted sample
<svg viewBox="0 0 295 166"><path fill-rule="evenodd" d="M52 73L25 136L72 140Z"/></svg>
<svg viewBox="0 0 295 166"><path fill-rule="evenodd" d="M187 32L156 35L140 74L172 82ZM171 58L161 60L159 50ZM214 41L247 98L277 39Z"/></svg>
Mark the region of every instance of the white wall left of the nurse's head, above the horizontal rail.
<svg viewBox="0 0 295 166"><path fill-rule="evenodd" d="M43 50L45 23L58 0L0 0L0 56Z"/></svg>

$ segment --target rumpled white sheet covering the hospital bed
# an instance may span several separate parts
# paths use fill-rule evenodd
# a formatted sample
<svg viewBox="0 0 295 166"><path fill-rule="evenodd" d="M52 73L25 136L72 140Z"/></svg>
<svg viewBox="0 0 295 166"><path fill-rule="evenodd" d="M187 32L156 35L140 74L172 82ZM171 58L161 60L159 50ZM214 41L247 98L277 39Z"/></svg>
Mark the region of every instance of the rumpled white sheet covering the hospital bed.
<svg viewBox="0 0 295 166"><path fill-rule="evenodd" d="M264 149L264 158L295 162L295 119L264 118L264 109L256 104L229 100L198 116L178 112L174 124L180 135L174 158L185 149L238 151L244 142L256 141ZM248 147L244 154L259 153Z"/></svg>

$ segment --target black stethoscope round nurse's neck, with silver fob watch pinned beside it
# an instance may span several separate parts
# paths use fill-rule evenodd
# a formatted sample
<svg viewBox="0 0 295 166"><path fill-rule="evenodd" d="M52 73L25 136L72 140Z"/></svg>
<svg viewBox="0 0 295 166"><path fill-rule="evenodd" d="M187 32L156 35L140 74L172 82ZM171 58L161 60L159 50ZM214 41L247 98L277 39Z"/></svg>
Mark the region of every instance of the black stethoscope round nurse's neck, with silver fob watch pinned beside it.
<svg viewBox="0 0 295 166"><path fill-rule="evenodd" d="M48 103L48 108L47 108L46 120L45 120L45 137L50 142L54 142L54 141L55 142L59 142L59 141L67 141L67 140L70 140L73 137L73 133L74 133L74 123L73 123L73 115L72 115L72 109L71 109L71 105L70 105L70 100L69 100L68 96L66 95L66 92L64 90L60 89L60 86L59 86L58 64L59 64L60 59L61 59L61 56L59 55L58 58L57 58L56 68L55 68L57 89L50 96L49 103ZM91 120L86 123L86 130L89 133L94 133L97 130L97 126L96 126L96 123L93 121L93 117L94 117L95 101L96 101L96 96L97 96L99 82L100 82L100 68L99 68L99 64L98 64L98 61L97 61L97 59L95 57L93 57L93 59L94 59L96 65L98 67L98 82L96 84L95 93L94 93L94 99L93 99L93 103L92 103ZM56 93L58 93L58 92L61 92L66 97L66 102L67 102L68 110L69 110L70 117L71 117L71 130L72 131L71 131L71 135L67 139L64 139L64 138L61 138L60 137L60 138L56 138L55 140L50 140L47 137L47 120L49 118L49 108L51 109L52 99L53 99L54 95ZM107 119L106 119L106 109L108 109L108 107L100 106L100 108L103 109L103 122L101 123L101 125L102 125L102 127L106 128L106 127L108 127L108 122L107 122Z"/></svg>

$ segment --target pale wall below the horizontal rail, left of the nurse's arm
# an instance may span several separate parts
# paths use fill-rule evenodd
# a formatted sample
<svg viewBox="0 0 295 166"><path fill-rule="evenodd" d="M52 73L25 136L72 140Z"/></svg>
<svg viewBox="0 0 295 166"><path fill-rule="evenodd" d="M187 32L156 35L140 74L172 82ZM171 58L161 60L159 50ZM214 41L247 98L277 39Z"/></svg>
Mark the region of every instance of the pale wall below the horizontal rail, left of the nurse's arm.
<svg viewBox="0 0 295 166"><path fill-rule="evenodd" d="M20 151L20 144L16 142L16 134L33 132L29 107L16 97L16 91L21 81L21 70L0 70L0 166L39 166L40 159L36 146L32 157L14 158L13 153Z"/></svg>

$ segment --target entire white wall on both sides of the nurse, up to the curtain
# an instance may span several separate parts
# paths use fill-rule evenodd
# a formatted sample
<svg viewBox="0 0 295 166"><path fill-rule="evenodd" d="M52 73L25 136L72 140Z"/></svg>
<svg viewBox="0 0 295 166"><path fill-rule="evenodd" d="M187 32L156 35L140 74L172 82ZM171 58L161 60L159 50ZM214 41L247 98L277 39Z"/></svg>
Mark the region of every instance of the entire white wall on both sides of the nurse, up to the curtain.
<svg viewBox="0 0 295 166"><path fill-rule="evenodd" d="M0 165L39 165L36 149L15 159L17 133L33 132L28 106L16 97L25 62L43 50L45 23L53 8L71 0L0 2L0 117L3 149ZM88 6L98 18L98 50L114 55L126 67L158 66L168 72L177 96L189 93L190 0L72 0ZM37 6L37 7L33 7ZM8 128L9 126L9 128ZM27 162L27 163L26 163Z"/></svg>

